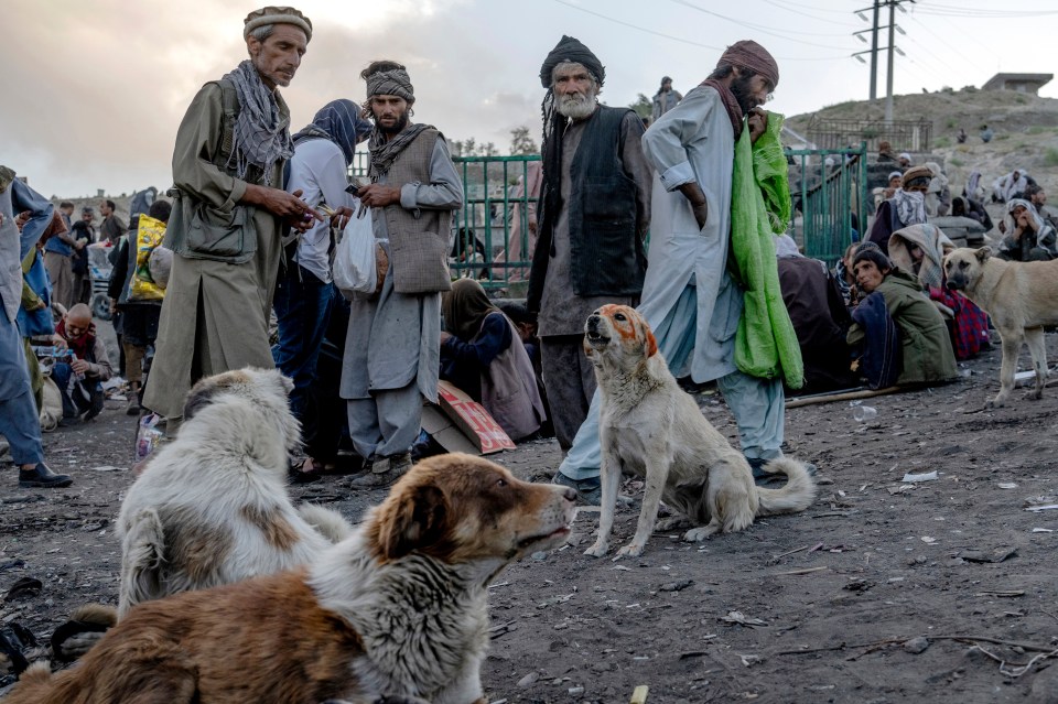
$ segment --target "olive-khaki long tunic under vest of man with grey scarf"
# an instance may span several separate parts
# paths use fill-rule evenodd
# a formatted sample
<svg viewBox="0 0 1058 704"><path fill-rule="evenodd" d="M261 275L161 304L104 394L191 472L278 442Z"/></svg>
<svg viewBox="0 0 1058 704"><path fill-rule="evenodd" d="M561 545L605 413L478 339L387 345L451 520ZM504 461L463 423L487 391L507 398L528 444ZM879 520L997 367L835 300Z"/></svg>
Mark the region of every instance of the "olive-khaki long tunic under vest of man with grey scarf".
<svg viewBox="0 0 1058 704"><path fill-rule="evenodd" d="M280 120L290 110L279 94ZM220 152L224 109L220 87L206 84L195 96L176 132L173 182L196 202L230 210L246 194L247 182L210 161ZM282 183L277 162L270 183ZM183 218L190 223L191 218ZM246 366L274 367L268 344L268 318L279 269L280 220L253 208L257 252L242 264L174 256L158 328L156 354L143 404L168 418L180 416L184 397L197 377ZM196 360L197 357L197 360ZM192 362L198 362L193 375Z"/></svg>

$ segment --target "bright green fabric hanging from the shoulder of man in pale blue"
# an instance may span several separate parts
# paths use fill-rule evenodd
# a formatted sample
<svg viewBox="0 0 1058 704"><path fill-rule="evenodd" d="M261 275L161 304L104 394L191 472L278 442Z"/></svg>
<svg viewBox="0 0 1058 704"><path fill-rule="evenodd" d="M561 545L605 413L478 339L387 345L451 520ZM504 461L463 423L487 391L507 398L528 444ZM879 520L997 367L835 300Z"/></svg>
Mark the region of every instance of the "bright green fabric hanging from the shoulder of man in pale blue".
<svg viewBox="0 0 1058 704"><path fill-rule="evenodd" d="M756 144L743 130L735 144L731 188L731 250L745 289L745 306L735 336L735 364L753 377L782 376L791 389L805 386L805 364L794 323L782 302L771 235L786 231L790 187L779 141L782 116L768 113Z"/></svg>

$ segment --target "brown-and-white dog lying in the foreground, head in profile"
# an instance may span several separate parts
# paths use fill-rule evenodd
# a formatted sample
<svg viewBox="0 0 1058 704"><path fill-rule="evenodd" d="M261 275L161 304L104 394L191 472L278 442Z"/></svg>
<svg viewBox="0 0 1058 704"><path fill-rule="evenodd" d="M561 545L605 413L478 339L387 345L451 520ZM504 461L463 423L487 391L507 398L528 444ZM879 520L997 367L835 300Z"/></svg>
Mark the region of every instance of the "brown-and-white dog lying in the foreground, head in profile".
<svg viewBox="0 0 1058 704"><path fill-rule="evenodd" d="M575 496L430 457L307 566L140 604L78 667L32 665L7 704L485 702L488 584L565 540Z"/></svg>

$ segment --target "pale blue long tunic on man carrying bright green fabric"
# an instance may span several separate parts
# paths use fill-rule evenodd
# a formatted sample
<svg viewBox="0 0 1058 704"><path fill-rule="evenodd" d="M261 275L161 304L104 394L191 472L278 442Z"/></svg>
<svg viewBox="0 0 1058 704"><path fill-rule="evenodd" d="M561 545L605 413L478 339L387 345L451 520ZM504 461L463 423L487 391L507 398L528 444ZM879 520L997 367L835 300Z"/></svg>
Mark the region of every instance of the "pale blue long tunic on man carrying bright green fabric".
<svg viewBox="0 0 1058 704"><path fill-rule="evenodd" d="M643 151L656 170L647 278L639 311L657 327L693 286L698 329L690 372L701 383L735 371L735 332L743 293L727 273L731 230L731 175L735 142L720 94L698 86L650 126ZM705 194L709 216L698 227L679 186L697 182Z"/></svg>

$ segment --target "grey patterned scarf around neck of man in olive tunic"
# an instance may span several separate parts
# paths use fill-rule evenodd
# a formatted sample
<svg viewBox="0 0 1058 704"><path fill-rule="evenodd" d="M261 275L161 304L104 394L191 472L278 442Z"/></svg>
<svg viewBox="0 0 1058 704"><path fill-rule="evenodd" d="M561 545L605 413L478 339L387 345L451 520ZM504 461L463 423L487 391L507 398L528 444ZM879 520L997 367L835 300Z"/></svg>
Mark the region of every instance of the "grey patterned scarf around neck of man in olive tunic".
<svg viewBox="0 0 1058 704"><path fill-rule="evenodd" d="M271 185L276 162L294 155L290 126L279 115L276 94L264 85L249 58L225 79L235 85L239 99L231 156L225 166L234 167L235 175L241 180L246 180L250 165L258 166L264 174L264 185Z"/></svg>

